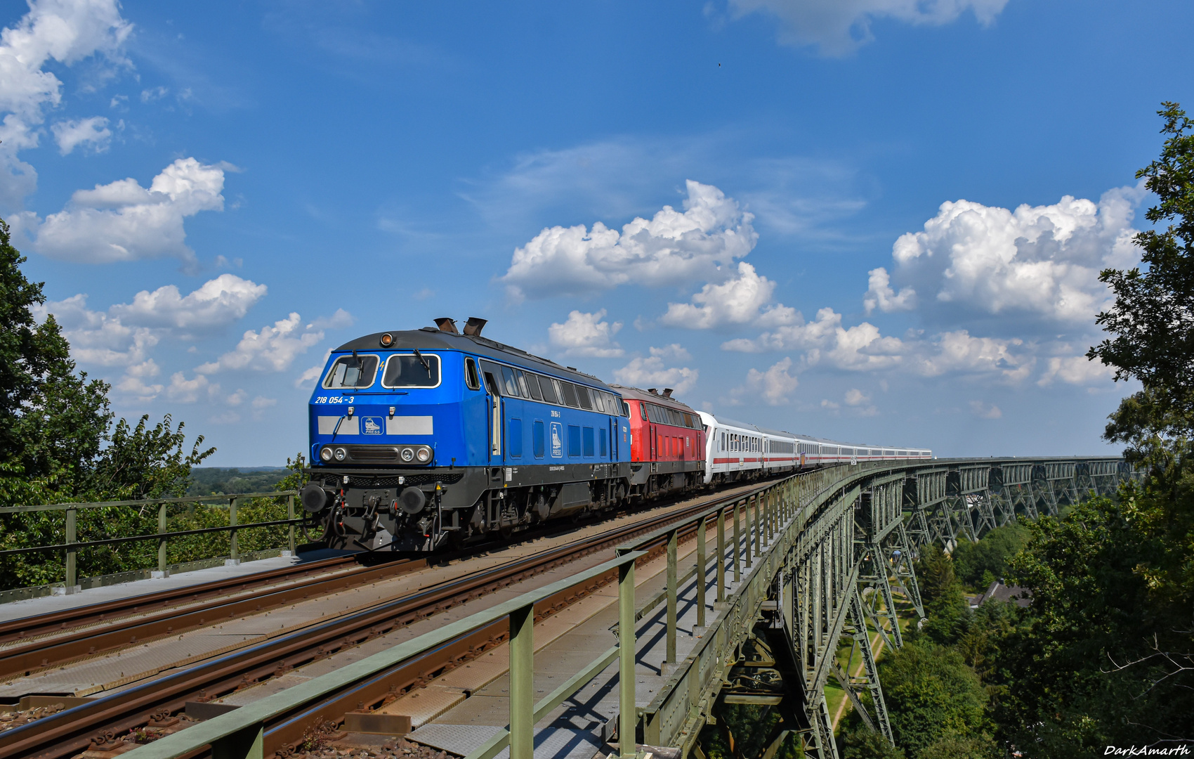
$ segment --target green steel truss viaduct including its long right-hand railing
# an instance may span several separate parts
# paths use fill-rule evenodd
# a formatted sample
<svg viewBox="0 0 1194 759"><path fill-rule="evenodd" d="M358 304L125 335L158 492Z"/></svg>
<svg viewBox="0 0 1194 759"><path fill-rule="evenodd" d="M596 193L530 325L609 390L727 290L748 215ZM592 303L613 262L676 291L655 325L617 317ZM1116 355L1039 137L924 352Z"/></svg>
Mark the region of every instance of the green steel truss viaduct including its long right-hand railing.
<svg viewBox="0 0 1194 759"><path fill-rule="evenodd" d="M1055 515L1134 477L1119 458L904 460L795 475L718 500L634 537L610 561L166 735L128 759L184 759L207 746L213 759L291 755L290 734L306 720L334 722L344 700L357 703L352 714L369 716L370 704L384 698L387 678L425 666L420 656L445 647L458 647L451 650L464 656L479 641L492 642L486 636L494 635L494 625L509 633L510 722L466 759L496 759L507 746L513 759L534 759L536 723L566 702L583 706L604 691L616 714L601 740L616 735L623 759L635 757L639 745L659 755L703 759L701 732L724 729L719 716L726 704L778 711L781 720L763 736L763 759L792 733L806 755L836 759L825 699L831 679L863 722L892 740L872 635L882 645L903 645L897 596L924 616L912 564L922 546L975 540L1017 515ZM682 552L679 543L689 538L695 550ZM663 553L664 587L636 602L635 567ZM617 622L610 628L616 644L565 681L552 680L555 688L536 702L542 693L535 687L536 614L598 581L617 583ZM837 657L843 644L850 647L845 667ZM656 668L648 660L663 663Z"/></svg>

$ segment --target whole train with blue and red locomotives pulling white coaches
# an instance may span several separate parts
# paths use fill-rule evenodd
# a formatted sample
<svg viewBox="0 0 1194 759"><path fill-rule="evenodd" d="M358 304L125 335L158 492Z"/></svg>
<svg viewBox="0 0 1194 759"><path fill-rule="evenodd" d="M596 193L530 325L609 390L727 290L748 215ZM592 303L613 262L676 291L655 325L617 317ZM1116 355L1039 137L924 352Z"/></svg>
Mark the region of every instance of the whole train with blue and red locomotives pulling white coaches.
<svg viewBox="0 0 1194 759"><path fill-rule="evenodd" d="M349 341L308 404L303 508L328 547L435 551L555 519L829 464L931 459L696 411L481 336L486 322Z"/></svg>

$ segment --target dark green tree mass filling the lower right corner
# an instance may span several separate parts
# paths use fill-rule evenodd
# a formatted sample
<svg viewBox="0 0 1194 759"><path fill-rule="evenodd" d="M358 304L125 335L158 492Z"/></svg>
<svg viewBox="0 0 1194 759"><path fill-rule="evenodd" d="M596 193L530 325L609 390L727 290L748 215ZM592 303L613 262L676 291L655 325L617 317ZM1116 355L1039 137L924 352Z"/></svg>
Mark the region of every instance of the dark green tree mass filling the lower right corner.
<svg viewBox="0 0 1194 759"><path fill-rule="evenodd" d="M1003 657L1010 687L996 714L1034 757L1188 733L1194 671L1181 666L1194 665L1194 543L1173 540L1183 520L1171 507L1188 514L1192 502L1189 473L1180 479L1158 488L1164 478L1153 472L1143 490L1032 525L1013 574L1032 589L1033 614Z"/></svg>

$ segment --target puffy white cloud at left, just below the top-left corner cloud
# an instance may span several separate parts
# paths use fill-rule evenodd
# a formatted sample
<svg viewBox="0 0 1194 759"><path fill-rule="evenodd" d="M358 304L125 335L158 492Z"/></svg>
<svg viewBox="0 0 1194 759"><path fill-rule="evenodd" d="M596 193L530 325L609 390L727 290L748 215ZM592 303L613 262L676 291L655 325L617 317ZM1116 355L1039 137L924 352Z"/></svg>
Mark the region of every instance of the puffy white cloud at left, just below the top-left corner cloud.
<svg viewBox="0 0 1194 759"><path fill-rule="evenodd" d="M180 158L153 178L78 190L63 210L26 222L36 250L50 258L111 263L172 256L195 265L184 220L201 210L223 210L224 169Z"/></svg>

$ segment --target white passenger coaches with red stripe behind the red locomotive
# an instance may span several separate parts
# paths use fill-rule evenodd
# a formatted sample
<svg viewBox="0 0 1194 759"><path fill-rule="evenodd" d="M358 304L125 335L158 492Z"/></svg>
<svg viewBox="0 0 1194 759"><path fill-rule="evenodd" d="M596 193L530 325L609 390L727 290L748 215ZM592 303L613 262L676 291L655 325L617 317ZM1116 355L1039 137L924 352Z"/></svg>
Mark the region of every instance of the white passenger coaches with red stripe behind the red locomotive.
<svg viewBox="0 0 1194 759"><path fill-rule="evenodd" d="M931 459L925 448L894 448L823 440L698 411L704 424L704 482L753 479L827 464Z"/></svg>

